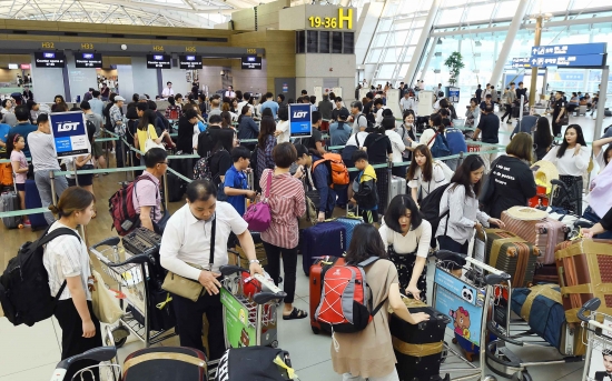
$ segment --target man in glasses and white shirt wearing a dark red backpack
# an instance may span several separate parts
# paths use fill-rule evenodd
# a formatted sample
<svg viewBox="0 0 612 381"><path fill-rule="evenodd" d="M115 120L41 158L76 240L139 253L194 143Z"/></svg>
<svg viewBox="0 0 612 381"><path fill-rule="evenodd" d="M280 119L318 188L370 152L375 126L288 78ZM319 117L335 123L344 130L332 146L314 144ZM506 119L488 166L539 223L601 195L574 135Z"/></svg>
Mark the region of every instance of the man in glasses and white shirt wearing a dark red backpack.
<svg viewBox="0 0 612 381"><path fill-rule="evenodd" d="M161 148L151 148L145 153L145 166L147 168L142 174L135 180L136 184L134 193L131 193L134 209L140 215L142 228L161 234L170 217L167 210L161 213L161 195L159 193L161 178L168 169L168 153Z"/></svg>

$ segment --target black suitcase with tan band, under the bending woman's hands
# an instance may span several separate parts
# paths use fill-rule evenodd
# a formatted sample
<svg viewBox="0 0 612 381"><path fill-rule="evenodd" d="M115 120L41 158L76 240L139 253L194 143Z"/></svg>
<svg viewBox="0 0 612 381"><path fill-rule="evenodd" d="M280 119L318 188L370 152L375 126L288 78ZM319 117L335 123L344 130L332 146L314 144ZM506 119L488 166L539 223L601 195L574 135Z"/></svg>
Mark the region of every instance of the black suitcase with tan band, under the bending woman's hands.
<svg viewBox="0 0 612 381"><path fill-rule="evenodd" d="M421 302L409 299L404 301L409 305L419 305L408 307L411 313L425 312L431 318L415 325L389 314L389 331L397 358L395 368L399 381L440 380L440 365L445 352L444 332L451 318Z"/></svg>

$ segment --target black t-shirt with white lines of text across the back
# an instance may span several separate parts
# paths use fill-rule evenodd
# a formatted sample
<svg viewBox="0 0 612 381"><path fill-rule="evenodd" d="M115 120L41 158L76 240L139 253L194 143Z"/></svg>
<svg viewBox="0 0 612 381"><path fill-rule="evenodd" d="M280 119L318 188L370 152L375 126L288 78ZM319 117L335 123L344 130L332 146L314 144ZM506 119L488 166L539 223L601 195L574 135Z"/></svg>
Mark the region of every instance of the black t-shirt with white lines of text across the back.
<svg viewBox="0 0 612 381"><path fill-rule="evenodd" d="M491 173L495 181L491 217L499 219L504 210L524 207L527 200L535 195L533 172L521 159L500 157Z"/></svg>

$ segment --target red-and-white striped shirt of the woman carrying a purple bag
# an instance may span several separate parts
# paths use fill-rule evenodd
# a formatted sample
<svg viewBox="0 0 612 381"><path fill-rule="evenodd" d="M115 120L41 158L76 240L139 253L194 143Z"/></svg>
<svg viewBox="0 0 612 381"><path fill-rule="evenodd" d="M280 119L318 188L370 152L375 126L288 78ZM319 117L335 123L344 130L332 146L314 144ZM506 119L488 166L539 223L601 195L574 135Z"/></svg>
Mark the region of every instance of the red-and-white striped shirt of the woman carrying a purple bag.
<svg viewBox="0 0 612 381"><path fill-rule="evenodd" d="M290 173L274 174L266 169L259 180L261 194L266 194L268 176L273 176L268 204L272 223L261 232L261 240L279 248L293 249L299 241L297 219L306 212L302 182Z"/></svg>

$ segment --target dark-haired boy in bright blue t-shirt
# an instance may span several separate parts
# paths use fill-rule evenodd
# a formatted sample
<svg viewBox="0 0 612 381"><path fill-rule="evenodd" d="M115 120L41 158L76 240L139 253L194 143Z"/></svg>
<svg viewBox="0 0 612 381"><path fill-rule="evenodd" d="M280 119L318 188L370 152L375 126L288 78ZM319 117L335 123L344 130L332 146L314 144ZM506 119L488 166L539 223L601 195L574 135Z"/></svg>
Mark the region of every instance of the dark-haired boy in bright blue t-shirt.
<svg viewBox="0 0 612 381"><path fill-rule="evenodd" d="M238 214L245 214L245 199L255 198L255 191L248 190L247 176L245 170L248 169L250 163L250 151L245 147L236 147L231 150L231 166L227 172L225 172L224 191L227 195L227 202L229 202Z"/></svg>

